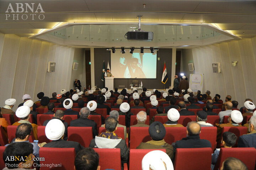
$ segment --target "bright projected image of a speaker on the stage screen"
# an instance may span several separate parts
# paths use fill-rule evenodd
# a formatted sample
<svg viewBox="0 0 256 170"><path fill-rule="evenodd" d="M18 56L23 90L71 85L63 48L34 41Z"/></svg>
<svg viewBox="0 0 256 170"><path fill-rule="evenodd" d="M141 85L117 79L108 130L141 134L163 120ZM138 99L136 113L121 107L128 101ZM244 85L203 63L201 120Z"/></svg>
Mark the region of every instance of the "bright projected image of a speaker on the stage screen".
<svg viewBox="0 0 256 170"><path fill-rule="evenodd" d="M156 54L111 53L111 73L114 78L156 78Z"/></svg>

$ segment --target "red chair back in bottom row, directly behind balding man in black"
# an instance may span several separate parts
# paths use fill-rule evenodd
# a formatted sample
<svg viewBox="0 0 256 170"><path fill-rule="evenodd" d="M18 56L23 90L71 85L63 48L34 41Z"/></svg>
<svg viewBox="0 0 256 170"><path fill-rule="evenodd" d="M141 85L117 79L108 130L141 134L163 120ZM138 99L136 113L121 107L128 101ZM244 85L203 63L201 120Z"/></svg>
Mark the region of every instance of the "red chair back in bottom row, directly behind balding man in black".
<svg viewBox="0 0 256 170"><path fill-rule="evenodd" d="M174 168L175 170L210 170L211 162L211 148L177 148Z"/></svg>

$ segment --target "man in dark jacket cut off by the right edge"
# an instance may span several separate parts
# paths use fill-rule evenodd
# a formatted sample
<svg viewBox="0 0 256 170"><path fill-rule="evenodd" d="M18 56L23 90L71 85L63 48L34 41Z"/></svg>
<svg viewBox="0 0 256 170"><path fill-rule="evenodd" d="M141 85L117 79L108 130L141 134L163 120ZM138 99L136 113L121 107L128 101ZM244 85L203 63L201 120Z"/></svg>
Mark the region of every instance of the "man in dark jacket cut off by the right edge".
<svg viewBox="0 0 256 170"><path fill-rule="evenodd" d="M256 111L255 111L256 112ZM238 147L256 148L256 116L252 116L249 121L249 134L242 135L238 138Z"/></svg>

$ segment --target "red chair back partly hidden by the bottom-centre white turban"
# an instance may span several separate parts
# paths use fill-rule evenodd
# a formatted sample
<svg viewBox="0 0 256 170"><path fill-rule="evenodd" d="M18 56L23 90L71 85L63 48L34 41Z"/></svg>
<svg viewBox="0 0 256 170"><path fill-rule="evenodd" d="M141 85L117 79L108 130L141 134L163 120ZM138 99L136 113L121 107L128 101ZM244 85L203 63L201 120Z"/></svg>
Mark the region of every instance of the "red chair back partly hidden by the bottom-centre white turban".
<svg viewBox="0 0 256 170"><path fill-rule="evenodd" d="M155 150L166 152L166 149L130 149L129 169L141 169L143 157Z"/></svg>

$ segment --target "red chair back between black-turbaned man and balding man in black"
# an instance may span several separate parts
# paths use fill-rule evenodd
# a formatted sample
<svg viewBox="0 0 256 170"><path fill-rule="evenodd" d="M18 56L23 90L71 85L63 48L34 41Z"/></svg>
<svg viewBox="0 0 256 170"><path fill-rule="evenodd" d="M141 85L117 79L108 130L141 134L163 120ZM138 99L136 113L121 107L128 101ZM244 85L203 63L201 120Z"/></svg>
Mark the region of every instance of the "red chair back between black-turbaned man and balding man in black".
<svg viewBox="0 0 256 170"><path fill-rule="evenodd" d="M164 137L165 142L170 145L173 142L179 141L184 137L187 137L187 128L186 127L165 127L166 134Z"/></svg>

